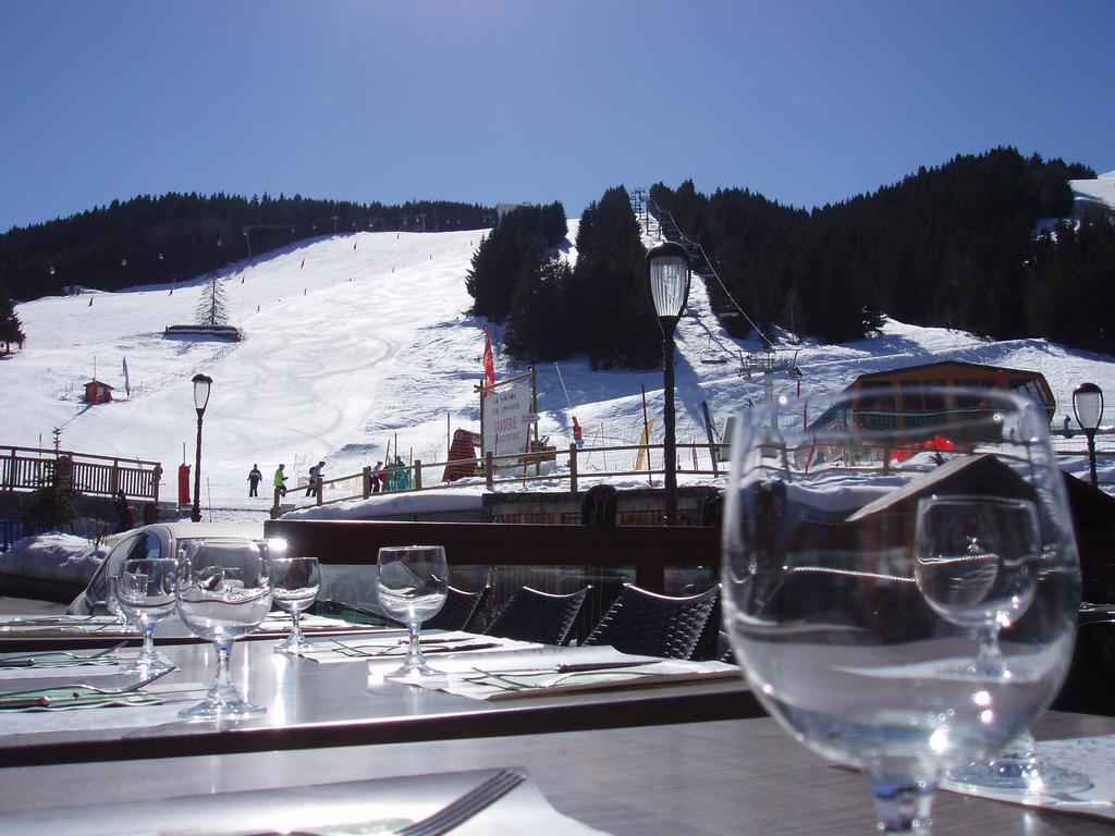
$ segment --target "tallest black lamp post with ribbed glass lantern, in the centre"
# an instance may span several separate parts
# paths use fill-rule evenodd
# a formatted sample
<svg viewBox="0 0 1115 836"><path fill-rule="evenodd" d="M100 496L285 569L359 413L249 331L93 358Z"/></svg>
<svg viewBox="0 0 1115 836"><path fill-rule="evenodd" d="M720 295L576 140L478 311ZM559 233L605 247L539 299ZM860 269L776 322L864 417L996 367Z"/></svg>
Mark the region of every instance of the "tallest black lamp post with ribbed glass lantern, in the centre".
<svg viewBox="0 0 1115 836"><path fill-rule="evenodd" d="M647 253L647 289L662 329L665 378L666 525L678 522L678 463L673 437L673 330L689 299L689 253L681 244L662 241Z"/></svg>

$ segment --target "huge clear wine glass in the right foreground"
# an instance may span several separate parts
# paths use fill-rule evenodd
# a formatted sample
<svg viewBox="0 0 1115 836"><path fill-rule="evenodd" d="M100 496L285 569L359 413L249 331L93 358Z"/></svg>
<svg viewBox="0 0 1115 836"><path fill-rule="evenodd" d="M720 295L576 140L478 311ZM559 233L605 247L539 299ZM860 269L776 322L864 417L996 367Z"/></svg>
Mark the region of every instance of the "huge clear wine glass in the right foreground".
<svg viewBox="0 0 1115 836"><path fill-rule="evenodd" d="M847 391L806 429L747 410L723 561L726 622L753 691L806 746L866 775L889 833L928 826L943 772L997 751L1045 709L1079 601L1045 411L988 389L903 398ZM993 574L989 558L963 564L972 574L959 585L919 576L918 503L958 494L1020 500L1037 542L1011 546ZM1000 664L973 664L985 622L966 595L1010 613L995 631Z"/></svg>

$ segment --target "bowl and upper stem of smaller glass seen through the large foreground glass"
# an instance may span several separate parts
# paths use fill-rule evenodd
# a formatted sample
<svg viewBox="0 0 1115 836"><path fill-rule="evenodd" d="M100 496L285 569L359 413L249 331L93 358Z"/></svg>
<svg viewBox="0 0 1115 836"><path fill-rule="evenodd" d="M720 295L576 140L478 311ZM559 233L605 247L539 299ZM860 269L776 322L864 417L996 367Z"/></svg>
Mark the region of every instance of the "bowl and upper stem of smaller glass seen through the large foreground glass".
<svg viewBox="0 0 1115 836"><path fill-rule="evenodd" d="M914 580L933 611L976 631L978 677L1010 677L999 631L1025 614L1037 586L1037 506L1000 496L925 496L918 500Z"/></svg>

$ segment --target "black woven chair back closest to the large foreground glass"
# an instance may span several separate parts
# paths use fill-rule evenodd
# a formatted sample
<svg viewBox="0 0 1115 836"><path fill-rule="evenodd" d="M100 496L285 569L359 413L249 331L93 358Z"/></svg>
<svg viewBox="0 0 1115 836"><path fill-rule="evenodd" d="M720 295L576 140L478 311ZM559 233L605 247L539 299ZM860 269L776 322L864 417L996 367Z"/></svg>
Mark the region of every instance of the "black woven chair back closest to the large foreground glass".
<svg viewBox="0 0 1115 836"><path fill-rule="evenodd" d="M623 591L584 644L611 644L622 653L692 659L707 633L711 634L712 648L716 647L715 630L719 624L706 629L719 601L719 584L688 597L658 595L623 584Z"/></svg>

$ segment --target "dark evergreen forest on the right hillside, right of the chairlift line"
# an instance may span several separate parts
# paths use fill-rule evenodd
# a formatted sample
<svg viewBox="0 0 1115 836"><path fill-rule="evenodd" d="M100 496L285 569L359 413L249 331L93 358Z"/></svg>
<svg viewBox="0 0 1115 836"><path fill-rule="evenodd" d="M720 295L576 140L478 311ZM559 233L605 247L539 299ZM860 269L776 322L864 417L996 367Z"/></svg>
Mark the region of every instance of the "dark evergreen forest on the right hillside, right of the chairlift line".
<svg viewBox="0 0 1115 836"><path fill-rule="evenodd" d="M843 342L890 315L1115 352L1103 301L1115 298L1111 218L1057 224L1073 213L1068 181L1089 177L1080 165L996 148L813 212L747 189L706 196L691 182L659 184L651 200L699 242L724 284L707 282L714 310L735 336L754 323L768 336L780 327Z"/></svg>

